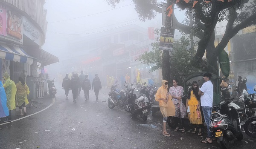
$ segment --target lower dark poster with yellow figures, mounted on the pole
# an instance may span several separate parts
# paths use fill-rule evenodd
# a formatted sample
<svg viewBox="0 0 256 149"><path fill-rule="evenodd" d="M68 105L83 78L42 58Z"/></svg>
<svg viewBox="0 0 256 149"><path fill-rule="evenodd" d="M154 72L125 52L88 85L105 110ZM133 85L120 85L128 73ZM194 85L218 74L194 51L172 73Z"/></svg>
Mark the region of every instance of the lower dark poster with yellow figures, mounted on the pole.
<svg viewBox="0 0 256 149"><path fill-rule="evenodd" d="M174 41L175 29L162 27L160 35L160 50L166 50L172 52L172 46Z"/></svg>

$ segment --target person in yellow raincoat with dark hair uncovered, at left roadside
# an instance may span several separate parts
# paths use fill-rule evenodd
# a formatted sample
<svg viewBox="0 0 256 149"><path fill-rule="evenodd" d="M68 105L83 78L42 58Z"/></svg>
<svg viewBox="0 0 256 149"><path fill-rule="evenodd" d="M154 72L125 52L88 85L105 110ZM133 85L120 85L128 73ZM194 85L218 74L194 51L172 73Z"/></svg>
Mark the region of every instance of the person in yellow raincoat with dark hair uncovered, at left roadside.
<svg viewBox="0 0 256 149"><path fill-rule="evenodd" d="M16 88L17 88L17 92L16 92L17 106L19 106L19 109L20 109L20 114L18 116L23 115L22 107L24 110L24 116L26 116L26 105L29 104L29 100L27 98L27 95L29 95L29 87L26 85L23 78L19 77L19 82L16 84Z"/></svg>

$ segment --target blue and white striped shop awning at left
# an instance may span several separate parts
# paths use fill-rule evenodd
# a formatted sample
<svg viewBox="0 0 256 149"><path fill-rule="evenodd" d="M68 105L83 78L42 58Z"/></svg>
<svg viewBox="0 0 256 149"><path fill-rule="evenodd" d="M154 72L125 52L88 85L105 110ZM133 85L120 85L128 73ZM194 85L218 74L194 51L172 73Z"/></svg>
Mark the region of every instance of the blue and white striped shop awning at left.
<svg viewBox="0 0 256 149"><path fill-rule="evenodd" d="M6 44L0 44L0 58L30 65L33 63L33 59L35 59L26 54L22 48Z"/></svg>

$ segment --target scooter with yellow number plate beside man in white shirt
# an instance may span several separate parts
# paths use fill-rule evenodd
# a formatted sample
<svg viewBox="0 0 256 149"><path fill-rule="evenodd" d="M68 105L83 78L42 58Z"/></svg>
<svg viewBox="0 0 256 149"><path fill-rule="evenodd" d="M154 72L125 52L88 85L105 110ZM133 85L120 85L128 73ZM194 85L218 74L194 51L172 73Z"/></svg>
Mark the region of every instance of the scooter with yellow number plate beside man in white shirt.
<svg viewBox="0 0 256 149"><path fill-rule="evenodd" d="M242 140L244 138L238 112L234 107L228 106L233 99L222 100L218 106L212 108L210 132L215 134L218 144L223 149L229 149L230 140L235 138Z"/></svg>

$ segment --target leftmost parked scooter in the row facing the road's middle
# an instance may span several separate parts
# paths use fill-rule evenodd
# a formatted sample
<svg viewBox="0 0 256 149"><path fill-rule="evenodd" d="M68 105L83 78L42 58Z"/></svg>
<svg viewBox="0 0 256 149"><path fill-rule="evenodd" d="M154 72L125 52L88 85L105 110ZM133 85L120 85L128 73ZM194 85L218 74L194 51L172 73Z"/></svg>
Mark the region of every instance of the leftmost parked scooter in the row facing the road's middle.
<svg viewBox="0 0 256 149"><path fill-rule="evenodd" d="M116 85L116 83L111 86L110 93L108 94L110 96L108 98L108 107L110 109L113 109L115 106L123 108L128 97L128 90L122 89L121 91L119 91L118 89L116 89L116 86L118 86L118 84ZM125 111L127 110L128 109L125 109Z"/></svg>

